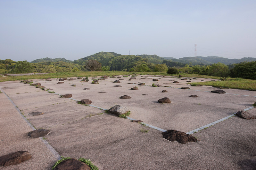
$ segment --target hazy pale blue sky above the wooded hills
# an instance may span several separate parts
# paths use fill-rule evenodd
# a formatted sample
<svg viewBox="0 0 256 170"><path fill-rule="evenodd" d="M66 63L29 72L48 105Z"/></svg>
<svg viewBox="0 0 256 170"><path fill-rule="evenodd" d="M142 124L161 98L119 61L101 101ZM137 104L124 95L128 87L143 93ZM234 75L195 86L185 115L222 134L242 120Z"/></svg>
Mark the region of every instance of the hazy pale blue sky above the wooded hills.
<svg viewBox="0 0 256 170"><path fill-rule="evenodd" d="M0 59L256 57L255 0L0 0Z"/></svg>

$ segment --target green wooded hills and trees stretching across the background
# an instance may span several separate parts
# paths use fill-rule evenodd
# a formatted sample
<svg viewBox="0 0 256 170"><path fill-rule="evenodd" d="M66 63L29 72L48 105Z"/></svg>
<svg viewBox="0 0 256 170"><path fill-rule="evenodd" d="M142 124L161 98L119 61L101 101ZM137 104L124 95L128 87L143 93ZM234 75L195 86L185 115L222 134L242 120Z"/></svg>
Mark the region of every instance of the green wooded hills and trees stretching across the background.
<svg viewBox="0 0 256 170"><path fill-rule="evenodd" d="M114 70L130 72L167 72L169 70L170 74L178 71L223 78L256 79L256 58L227 59L218 56L197 56L176 59L157 55L121 55L114 52L99 52L74 61L48 57L32 62L0 60L0 74Z"/></svg>

